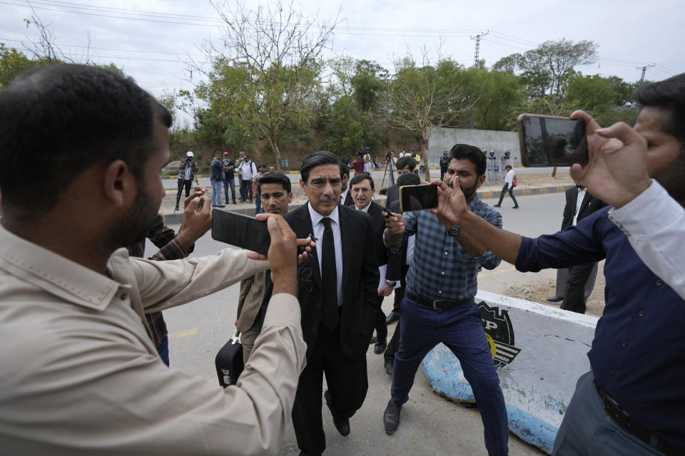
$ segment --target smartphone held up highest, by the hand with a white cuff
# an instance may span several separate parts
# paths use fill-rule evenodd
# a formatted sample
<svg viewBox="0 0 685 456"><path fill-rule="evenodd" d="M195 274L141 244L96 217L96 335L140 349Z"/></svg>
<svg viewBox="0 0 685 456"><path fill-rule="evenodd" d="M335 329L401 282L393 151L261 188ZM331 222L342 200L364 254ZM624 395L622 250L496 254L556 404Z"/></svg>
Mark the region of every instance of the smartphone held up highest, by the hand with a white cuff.
<svg viewBox="0 0 685 456"><path fill-rule="evenodd" d="M522 114L518 122L521 162L525 167L588 162L584 120Z"/></svg>

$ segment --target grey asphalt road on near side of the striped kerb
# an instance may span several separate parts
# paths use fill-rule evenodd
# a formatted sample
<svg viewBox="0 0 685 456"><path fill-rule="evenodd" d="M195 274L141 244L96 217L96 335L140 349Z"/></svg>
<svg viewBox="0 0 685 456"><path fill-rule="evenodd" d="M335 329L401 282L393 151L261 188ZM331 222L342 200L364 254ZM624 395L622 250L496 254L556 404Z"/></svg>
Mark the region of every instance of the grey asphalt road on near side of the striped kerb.
<svg viewBox="0 0 685 456"><path fill-rule="evenodd" d="M504 228L526 236L552 233L559 229L564 207L564 194L519 197L520 209L511 209L507 196L502 204ZM485 200L488 204L497 201ZM198 241L193 256L212 254L225 247L211 239L210 234ZM153 254L148 244L146 255ZM494 271L483 271L482 289L492 291L498 284L518 281L521 273L502 262ZM531 274L526 274L527 276ZM239 284L224 289L191 304L164 311L169 330L171 369L184 371L217 385L214 356L233 331L238 303ZM386 314L392 309L392 296L385 300ZM395 324L389 328L390 334ZM324 407L323 422L328 439L327 455L486 455L483 427L477 409L466 408L445 400L432 392L422 371L417 373L410 401L402 408L399 430L385 435L382 413L390 398L391 378L382 368L382 355L367 352L369 391L362 408L350 420L352 432L342 437L333 427L328 409ZM509 435L509 454L542 455L514 435ZM298 455L295 433L291 424L285 434L285 445L279 455Z"/></svg>

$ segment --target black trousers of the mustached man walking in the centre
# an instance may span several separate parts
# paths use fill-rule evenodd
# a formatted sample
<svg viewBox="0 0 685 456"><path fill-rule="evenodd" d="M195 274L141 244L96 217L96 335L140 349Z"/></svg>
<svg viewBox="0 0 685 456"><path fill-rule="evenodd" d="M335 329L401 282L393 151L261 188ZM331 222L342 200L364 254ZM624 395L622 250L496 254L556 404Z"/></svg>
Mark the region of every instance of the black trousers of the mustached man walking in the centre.
<svg viewBox="0 0 685 456"><path fill-rule="evenodd" d="M323 432L323 375L331 397L331 410L340 418L350 418L364 403L369 388L366 356L350 360L340 349L340 326L329 331L319 325L318 338L307 367L300 374L293 405L293 427L298 447L306 455L320 455L326 448Z"/></svg>

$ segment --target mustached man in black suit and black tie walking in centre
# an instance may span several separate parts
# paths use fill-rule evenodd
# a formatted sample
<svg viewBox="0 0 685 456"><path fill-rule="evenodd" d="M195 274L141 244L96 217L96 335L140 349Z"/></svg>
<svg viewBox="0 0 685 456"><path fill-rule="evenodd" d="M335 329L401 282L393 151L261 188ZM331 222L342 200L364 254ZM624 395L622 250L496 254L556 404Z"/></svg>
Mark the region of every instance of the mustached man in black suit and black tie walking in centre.
<svg viewBox="0 0 685 456"><path fill-rule="evenodd" d="M308 261L298 266L302 330L307 367L300 375L293 426L301 455L325 450L321 418L323 374L326 403L340 434L368 389L366 351L378 310L379 282L372 219L340 202L340 163L332 152L310 154L300 167L308 197L283 217L295 234L318 239Z"/></svg>

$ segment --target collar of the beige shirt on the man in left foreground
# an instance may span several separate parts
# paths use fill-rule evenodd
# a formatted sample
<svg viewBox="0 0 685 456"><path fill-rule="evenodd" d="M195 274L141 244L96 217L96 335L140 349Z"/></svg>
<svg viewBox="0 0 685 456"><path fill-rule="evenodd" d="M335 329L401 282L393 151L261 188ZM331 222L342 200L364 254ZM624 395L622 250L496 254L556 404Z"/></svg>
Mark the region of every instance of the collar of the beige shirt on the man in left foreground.
<svg viewBox="0 0 685 456"><path fill-rule="evenodd" d="M126 249L119 249L126 251ZM79 306L102 310L122 286L0 225L0 269Z"/></svg>

